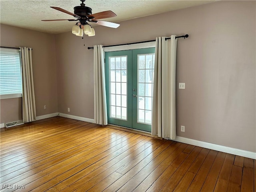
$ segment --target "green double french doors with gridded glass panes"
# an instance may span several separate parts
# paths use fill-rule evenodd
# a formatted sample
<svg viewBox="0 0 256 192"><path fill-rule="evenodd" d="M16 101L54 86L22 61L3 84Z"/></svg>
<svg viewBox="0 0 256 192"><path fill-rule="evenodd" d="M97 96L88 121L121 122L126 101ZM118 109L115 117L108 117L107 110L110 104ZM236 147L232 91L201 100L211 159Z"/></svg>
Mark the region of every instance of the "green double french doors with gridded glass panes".
<svg viewBox="0 0 256 192"><path fill-rule="evenodd" d="M108 123L151 132L155 48L105 53Z"/></svg>

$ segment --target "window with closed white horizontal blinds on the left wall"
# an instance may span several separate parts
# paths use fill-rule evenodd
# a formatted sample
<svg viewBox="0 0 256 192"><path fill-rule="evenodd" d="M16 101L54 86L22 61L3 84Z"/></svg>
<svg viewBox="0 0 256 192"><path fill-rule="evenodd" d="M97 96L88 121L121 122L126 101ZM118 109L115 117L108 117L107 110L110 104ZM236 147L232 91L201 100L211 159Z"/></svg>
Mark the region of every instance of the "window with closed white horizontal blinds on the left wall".
<svg viewBox="0 0 256 192"><path fill-rule="evenodd" d="M0 50L0 98L22 97L22 79L19 50Z"/></svg>

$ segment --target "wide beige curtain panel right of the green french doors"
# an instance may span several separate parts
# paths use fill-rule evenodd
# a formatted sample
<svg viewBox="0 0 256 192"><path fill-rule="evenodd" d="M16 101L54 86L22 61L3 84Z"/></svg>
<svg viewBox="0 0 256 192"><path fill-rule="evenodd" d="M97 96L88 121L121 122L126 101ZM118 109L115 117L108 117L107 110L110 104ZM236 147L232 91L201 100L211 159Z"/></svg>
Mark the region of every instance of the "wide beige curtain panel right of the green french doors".
<svg viewBox="0 0 256 192"><path fill-rule="evenodd" d="M176 138L176 35L156 38L152 135Z"/></svg>

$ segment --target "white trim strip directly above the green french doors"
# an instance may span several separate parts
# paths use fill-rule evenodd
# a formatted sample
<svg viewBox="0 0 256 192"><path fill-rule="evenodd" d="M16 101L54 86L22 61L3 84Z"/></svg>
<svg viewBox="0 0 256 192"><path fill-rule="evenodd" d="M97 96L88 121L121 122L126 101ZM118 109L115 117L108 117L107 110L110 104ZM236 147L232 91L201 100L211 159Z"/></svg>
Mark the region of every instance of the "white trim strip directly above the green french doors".
<svg viewBox="0 0 256 192"><path fill-rule="evenodd" d="M147 43L104 47L103 50L104 50L104 52L111 52L111 51L123 51L123 50L132 50L132 49L151 48L151 47L155 47L155 46L156 46L156 42L152 41L152 42L147 42Z"/></svg>

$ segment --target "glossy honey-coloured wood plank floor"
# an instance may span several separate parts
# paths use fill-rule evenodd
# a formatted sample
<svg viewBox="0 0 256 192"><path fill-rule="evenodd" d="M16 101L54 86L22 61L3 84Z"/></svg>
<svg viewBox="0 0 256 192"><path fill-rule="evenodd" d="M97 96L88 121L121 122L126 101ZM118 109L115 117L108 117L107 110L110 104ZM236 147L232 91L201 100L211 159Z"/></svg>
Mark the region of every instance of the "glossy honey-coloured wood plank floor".
<svg viewBox="0 0 256 192"><path fill-rule="evenodd" d="M54 117L2 129L1 191L256 192L256 160Z"/></svg>

